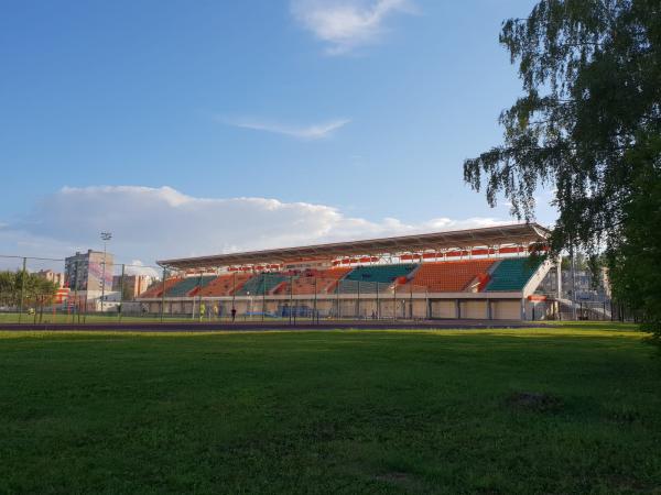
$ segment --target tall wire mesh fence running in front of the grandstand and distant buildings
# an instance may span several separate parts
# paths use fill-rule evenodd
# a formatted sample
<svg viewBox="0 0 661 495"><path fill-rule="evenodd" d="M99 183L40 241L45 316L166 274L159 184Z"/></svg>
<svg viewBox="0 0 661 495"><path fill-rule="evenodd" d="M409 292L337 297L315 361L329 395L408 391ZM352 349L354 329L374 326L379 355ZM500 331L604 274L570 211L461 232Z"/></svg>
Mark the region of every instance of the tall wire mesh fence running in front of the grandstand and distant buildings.
<svg viewBox="0 0 661 495"><path fill-rule="evenodd" d="M607 299L572 306L552 293L544 300L507 298L481 292L478 282L448 294L412 276L349 272L186 273L93 251L66 260L0 255L0 322L635 319Z"/></svg>

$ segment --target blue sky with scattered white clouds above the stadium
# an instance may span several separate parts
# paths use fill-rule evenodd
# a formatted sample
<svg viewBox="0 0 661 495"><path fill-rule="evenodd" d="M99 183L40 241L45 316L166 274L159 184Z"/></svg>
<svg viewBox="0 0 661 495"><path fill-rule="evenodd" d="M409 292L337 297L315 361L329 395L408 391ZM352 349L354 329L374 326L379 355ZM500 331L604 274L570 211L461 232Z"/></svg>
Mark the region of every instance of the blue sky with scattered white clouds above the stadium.
<svg viewBox="0 0 661 495"><path fill-rule="evenodd" d="M0 0L0 254L155 260L512 222L463 180L532 0ZM550 191L537 219L551 224Z"/></svg>

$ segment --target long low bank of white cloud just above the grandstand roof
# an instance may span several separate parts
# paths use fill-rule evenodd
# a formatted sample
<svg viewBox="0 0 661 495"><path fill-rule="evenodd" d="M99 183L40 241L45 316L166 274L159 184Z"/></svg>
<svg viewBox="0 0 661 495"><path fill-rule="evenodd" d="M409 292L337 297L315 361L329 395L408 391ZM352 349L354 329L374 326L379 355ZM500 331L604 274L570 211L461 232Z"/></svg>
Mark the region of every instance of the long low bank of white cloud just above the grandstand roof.
<svg viewBox="0 0 661 495"><path fill-rule="evenodd" d="M197 198L170 187L65 187L0 228L0 253L64 257L100 249L147 273L155 260L503 223L492 218L370 221L337 208L267 198ZM141 261L145 263L143 264Z"/></svg>

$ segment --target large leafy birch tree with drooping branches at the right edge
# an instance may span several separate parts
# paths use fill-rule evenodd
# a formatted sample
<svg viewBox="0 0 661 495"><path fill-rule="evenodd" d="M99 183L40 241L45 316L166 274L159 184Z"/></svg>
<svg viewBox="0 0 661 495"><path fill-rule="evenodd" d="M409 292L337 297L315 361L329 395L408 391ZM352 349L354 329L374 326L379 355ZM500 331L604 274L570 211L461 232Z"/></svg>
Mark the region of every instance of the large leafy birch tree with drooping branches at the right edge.
<svg viewBox="0 0 661 495"><path fill-rule="evenodd" d="M661 1L541 0L503 22L522 95L503 143L464 162L495 206L534 219L554 191L552 255L583 251L661 339Z"/></svg>

